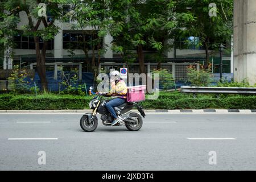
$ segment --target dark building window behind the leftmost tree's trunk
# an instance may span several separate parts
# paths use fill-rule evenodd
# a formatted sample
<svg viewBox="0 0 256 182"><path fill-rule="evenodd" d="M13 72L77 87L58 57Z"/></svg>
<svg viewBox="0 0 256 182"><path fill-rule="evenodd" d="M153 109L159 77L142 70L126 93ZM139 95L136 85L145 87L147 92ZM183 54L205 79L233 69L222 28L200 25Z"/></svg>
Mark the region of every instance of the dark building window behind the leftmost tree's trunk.
<svg viewBox="0 0 256 182"><path fill-rule="evenodd" d="M52 50L54 48L54 41L49 40L47 44L47 50ZM43 47L43 39L39 38L39 48ZM35 49L34 37L23 36L22 33L14 36L14 48L15 49Z"/></svg>

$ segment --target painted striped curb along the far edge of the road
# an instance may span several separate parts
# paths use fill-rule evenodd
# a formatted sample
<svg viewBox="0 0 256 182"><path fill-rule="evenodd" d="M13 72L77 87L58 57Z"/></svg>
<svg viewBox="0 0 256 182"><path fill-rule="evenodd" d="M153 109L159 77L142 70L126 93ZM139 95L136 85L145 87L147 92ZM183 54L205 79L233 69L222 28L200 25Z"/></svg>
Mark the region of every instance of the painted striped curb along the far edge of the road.
<svg viewBox="0 0 256 182"><path fill-rule="evenodd" d="M137 111L137 110L132 110ZM144 110L145 113L256 113L256 109L152 109ZM90 109L79 110L0 110L0 113L90 113Z"/></svg>

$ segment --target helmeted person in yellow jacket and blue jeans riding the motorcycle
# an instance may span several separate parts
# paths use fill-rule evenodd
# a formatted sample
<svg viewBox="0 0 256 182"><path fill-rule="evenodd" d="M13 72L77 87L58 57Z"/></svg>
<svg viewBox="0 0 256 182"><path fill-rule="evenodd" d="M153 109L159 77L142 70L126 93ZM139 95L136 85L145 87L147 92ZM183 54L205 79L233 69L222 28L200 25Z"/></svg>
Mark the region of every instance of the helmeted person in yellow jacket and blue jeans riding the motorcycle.
<svg viewBox="0 0 256 182"><path fill-rule="evenodd" d="M105 96L106 97L117 96L117 98L110 100L109 102L106 103L105 106L114 117L114 121L112 122L112 125L111 125L111 126L114 126L119 121L121 121L121 119L117 117L117 114L115 114L114 107L119 106L126 102L127 86L125 84L125 81L120 79L120 73L118 71L113 71L109 75L110 75L111 90L110 90L110 93L105 94Z"/></svg>

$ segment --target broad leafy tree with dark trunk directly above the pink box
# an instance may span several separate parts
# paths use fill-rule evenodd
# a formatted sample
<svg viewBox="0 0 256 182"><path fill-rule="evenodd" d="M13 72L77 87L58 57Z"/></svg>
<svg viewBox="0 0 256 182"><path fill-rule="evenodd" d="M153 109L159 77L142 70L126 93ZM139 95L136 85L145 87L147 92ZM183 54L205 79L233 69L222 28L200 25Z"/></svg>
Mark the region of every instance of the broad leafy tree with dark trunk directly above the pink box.
<svg viewBox="0 0 256 182"><path fill-rule="evenodd" d="M129 49L137 50L139 70L146 73L144 65L144 47L152 47L156 51L159 63L163 51L169 49L168 39L174 37L177 27L177 15L174 10L176 1L114 1L112 2L112 18L121 25L121 32L113 36L115 51L125 57ZM183 13L184 19L192 19L189 13Z"/></svg>

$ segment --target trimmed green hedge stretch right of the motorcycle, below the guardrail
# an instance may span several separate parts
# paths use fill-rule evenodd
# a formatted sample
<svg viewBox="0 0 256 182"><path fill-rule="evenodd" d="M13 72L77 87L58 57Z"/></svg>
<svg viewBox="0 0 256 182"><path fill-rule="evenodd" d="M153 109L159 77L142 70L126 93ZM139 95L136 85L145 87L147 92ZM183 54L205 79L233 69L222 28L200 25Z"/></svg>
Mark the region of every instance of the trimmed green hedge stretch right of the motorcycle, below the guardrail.
<svg viewBox="0 0 256 182"><path fill-rule="evenodd" d="M255 96L226 96L217 98L214 94L192 94L160 92L157 100L146 100L147 109L256 109Z"/></svg>

